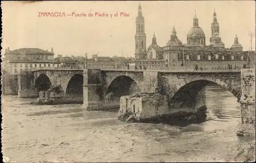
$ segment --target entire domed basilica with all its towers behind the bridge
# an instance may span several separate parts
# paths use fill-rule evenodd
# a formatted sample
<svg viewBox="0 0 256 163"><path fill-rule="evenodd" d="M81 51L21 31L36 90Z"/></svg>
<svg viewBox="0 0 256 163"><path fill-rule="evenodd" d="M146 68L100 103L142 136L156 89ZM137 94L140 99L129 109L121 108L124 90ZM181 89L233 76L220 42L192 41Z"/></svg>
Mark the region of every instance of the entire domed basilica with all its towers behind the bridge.
<svg viewBox="0 0 256 163"><path fill-rule="evenodd" d="M247 52L243 51L243 46L239 43L237 35L230 48L225 48L225 44L220 37L220 26L217 14L214 11L211 23L210 44L206 45L206 37L203 29L199 26L199 19L196 11L193 19L193 27L187 33L186 43L182 43L173 27L170 39L165 46L157 44L155 33L152 44L146 46L145 21L142 15L142 7L139 4L138 16L136 17L135 35L135 58L136 60L147 60L159 62L159 65L170 66L195 66L197 65L233 65L242 68L247 63ZM147 65L143 65L145 67Z"/></svg>

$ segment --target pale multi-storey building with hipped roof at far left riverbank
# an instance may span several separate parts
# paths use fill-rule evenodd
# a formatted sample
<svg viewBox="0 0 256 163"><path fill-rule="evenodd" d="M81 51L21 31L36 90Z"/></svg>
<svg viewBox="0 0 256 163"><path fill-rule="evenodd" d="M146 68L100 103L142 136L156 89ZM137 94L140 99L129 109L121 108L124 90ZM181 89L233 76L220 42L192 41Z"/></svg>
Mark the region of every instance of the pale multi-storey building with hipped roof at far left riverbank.
<svg viewBox="0 0 256 163"><path fill-rule="evenodd" d="M51 52L38 48L21 48L10 51L5 50L3 68L8 74L18 74L37 67L57 67L54 61L53 48Z"/></svg>

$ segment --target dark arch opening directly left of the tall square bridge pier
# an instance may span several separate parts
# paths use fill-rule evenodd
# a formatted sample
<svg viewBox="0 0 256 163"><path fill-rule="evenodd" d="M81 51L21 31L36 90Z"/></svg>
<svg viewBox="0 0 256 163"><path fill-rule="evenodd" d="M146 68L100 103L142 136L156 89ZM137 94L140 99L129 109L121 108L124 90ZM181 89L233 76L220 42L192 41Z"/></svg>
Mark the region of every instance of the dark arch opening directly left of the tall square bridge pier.
<svg viewBox="0 0 256 163"><path fill-rule="evenodd" d="M68 81L65 91L67 96L82 96L83 95L83 76L74 74Z"/></svg>

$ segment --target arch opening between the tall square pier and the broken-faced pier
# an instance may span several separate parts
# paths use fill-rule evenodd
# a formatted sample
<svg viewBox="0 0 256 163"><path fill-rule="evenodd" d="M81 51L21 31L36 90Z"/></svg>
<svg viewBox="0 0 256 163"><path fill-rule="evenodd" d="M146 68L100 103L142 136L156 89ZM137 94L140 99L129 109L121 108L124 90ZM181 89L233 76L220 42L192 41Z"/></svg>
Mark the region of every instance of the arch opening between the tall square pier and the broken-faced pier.
<svg viewBox="0 0 256 163"><path fill-rule="evenodd" d="M106 95L112 92L114 95L125 96L141 92L143 89L136 79L129 76L121 75L113 78L106 85Z"/></svg>

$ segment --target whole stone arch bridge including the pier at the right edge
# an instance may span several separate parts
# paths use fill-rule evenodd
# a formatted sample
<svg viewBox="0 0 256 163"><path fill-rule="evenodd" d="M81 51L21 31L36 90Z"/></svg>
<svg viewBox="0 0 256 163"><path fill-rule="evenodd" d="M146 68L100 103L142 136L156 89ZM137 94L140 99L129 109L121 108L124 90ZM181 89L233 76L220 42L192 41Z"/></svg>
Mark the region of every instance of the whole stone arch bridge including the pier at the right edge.
<svg viewBox="0 0 256 163"><path fill-rule="evenodd" d="M129 94L133 83L138 92L165 95L166 109L187 107L194 111L205 105L204 87L209 83L219 84L240 101L239 133L250 135L255 131L255 69L195 72L42 68L18 75L18 97L38 97L39 90L58 84L65 96L72 96L72 92L83 94L84 109L94 110L104 107L110 92L119 97Z"/></svg>

